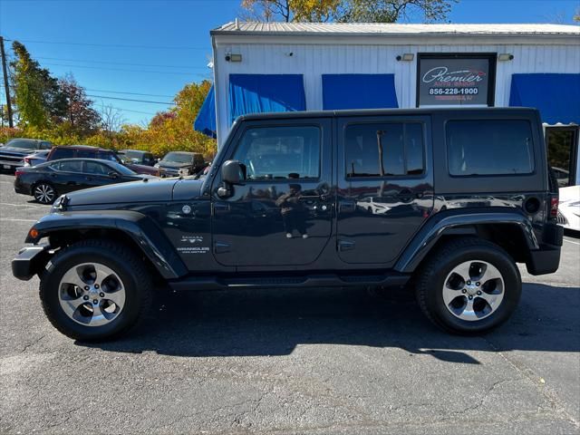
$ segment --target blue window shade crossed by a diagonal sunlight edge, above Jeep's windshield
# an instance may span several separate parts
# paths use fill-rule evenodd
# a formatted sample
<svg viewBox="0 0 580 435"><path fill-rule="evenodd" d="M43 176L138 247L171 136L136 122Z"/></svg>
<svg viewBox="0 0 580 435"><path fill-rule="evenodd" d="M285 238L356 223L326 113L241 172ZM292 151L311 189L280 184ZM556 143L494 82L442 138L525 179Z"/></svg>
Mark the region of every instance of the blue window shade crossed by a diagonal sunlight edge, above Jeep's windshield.
<svg viewBox="0 0 580 435"><path fill-rule="evenodd" d="M229 116L305 111L302 74L229 74Z"/></svg>

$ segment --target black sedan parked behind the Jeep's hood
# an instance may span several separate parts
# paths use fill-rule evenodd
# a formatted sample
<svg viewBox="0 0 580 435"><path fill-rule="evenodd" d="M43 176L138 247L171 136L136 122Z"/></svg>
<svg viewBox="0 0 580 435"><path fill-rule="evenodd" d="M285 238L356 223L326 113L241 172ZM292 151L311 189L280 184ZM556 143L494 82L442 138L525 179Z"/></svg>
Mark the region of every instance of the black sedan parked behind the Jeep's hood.
<svg viewBox="0 0 580 435"><path fill-rule="evenodd" d="M142 179L154 177L137 174L116 161L64 159L16 169L14 191L52 204L63 193Z"/></svg>

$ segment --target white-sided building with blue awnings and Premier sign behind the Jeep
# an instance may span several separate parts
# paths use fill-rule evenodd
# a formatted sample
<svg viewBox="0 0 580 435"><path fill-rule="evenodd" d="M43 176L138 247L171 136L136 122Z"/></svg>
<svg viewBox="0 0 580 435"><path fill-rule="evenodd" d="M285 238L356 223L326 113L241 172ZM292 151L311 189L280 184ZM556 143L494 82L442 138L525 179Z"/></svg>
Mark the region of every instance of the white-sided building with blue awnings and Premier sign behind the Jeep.
<svg viewBox="0 0 580 435"><path fill-rule="evenodd" d="M578 26L228 23L211 39L215 95L196 129L218 146L253 111L537 107L557 125L546 127L554 166L578 184Z"/></svg>

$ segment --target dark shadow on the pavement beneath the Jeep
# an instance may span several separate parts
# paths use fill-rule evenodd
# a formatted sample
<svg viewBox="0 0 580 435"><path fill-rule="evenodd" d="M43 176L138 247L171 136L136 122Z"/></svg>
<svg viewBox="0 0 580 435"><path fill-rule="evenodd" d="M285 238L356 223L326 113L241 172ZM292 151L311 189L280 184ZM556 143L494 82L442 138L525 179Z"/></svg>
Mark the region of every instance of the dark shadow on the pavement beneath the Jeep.
<svg viewBox="0 0 580 435"><path fill-rule="evenodd" d="M110 352L185 357L286 355L328 343L399 348L445 362L478 364L461 351L580 351L580 288L524 285L517 312L480 337L442 333L402 290L231 290L161 294L156 314L111 343Z"/></svg>

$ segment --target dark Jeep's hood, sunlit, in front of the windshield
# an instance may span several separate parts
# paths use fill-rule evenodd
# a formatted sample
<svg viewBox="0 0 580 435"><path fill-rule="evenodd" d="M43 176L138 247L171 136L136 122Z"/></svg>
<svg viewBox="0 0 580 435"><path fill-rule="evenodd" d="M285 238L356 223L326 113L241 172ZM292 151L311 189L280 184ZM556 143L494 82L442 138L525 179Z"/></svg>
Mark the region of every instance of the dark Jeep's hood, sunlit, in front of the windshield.
<svg viewBox="0 0 580 435"><path fill-rule="evenodd" d="M173 198L173 187L179 182L179 179L142 178L147 181L131 181L67 193L69 199L66 205L74 207L169 201Z"/></svg>

